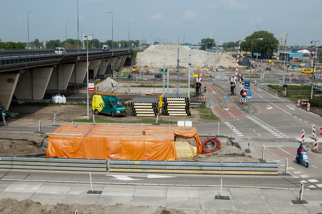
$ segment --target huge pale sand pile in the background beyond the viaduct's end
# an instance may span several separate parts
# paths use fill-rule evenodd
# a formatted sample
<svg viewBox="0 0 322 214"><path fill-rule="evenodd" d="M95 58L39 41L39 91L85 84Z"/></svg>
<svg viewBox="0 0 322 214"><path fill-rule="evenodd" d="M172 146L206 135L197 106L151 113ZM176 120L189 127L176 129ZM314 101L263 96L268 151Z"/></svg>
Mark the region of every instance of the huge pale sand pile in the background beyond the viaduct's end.
<svg viewBox="0 0 322 214"><path fill-rule="evenodd" d="M179 66L188 68L189 50L188 46L178 44L167 45L152 45L141 53L137 53L137 62L141 61L142 66L152 67L176 67L178 59L179 48ZM141 58L141 59L140 59ZM236 67L237 60L232 57L232 52L218 52L212 53L209 51L193 50L191 49L191 64L192 68L198 66L214 67L216 60L216 67L223 66L225 68ZM241 66L243 67L243 66Z"/></svg>

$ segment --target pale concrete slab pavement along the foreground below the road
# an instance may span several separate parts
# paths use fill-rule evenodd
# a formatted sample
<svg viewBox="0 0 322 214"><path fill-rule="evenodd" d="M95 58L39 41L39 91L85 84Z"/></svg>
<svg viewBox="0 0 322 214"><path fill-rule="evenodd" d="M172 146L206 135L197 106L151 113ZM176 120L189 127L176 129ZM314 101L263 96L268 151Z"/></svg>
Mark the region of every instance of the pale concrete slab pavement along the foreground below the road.
<svg viewBox="0 0 322 214"><path fill-rule="evenodd" d="M230 196L230 200L216 200L220 187L94 184L95 190L103 191L100 195L87 194L90 188L88 183L1 181L0 187L7 187L0 193L0 198L12 197L19 201L31 199L42 205L79 203L108 206L119 203L173 209L255 210L270 213L317 213L322 209L322 190L305 190L303 200L308 204L293 204L291 200L297 199L299 190L223 187L222 194Z"/></svg>

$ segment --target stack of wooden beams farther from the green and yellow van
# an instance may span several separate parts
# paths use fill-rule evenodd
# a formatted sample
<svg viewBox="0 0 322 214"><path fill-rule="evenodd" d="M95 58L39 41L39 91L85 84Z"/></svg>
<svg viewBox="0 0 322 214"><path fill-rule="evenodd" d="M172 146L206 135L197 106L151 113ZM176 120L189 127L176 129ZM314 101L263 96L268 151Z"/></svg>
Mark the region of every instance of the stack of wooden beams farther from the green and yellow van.
<svg viewBox="0 0 322 214"><path fill-rule="evenodd" d="M187 94L165 94L163 96L163 115L191 116L190 101Z"/></svg>

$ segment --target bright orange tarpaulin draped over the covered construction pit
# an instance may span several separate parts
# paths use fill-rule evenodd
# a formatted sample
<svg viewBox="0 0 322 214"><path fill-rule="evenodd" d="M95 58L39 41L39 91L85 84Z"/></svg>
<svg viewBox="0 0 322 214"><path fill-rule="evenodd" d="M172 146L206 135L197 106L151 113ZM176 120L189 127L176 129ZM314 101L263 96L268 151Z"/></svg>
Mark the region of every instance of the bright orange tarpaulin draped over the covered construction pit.
<svg viewBox="0 0 322 214"><path fill-rule="evenodd" d="M65 125L49 136L46 157L176 160L175 135L195 137L194 127Z"/></svg>

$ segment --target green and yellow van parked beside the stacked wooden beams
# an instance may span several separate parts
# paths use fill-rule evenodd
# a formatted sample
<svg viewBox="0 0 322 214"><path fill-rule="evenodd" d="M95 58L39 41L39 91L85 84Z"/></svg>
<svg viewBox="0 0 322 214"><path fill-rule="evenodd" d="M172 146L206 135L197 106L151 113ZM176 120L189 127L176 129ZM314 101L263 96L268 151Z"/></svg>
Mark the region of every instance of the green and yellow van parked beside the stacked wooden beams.
<svg viewBox="0 0 322 214"><path fill-rule="evenodd" d="M116 96L107 95L109 93L95 91L92 100L92 110L95 115L99 113L115 116L126 115L126 108Z"/></svg>

